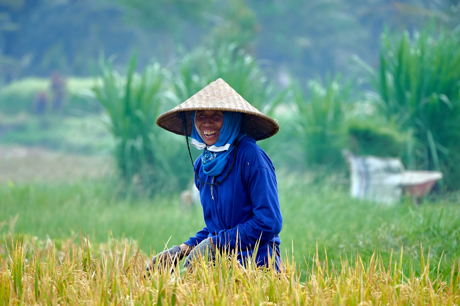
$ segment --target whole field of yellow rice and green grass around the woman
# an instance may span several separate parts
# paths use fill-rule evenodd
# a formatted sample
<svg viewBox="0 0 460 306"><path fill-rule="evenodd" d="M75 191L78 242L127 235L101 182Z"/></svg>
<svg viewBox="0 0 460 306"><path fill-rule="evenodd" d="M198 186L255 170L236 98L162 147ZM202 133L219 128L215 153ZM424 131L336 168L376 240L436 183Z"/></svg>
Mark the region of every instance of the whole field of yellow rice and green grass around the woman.
<svg viewBox="0 0 460 306"><path fill-rule="evenodd" d="M121 197L109 156L0 151L2 305L460 303L459 194L376 205L352 199L346 177L279 170L281 273L223 256L144 278L203 227L200 207L179 192Z"/></svg>

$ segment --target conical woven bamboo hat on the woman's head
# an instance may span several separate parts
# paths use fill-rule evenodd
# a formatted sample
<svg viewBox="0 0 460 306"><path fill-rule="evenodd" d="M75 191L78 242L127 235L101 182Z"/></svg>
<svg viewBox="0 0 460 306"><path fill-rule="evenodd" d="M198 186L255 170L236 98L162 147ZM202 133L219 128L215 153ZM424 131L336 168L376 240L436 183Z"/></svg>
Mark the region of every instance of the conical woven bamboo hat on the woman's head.
<svg viewBox="0 0 460 306"><path fill-rule="evenodd" d="M179 115L185 111L187 132L188 136L190 136L192 131L190 114L192 111L198 110L241 112L243 114L242 130L246 132L247 136L255 140L267 139L275 135L280 129L275 120L265 116L254 106L250 105L235 89L231 88L221 78L201 89L184 103L161 114L156 119L156 125L167 131L184 136L184 125Z"/></svg>

